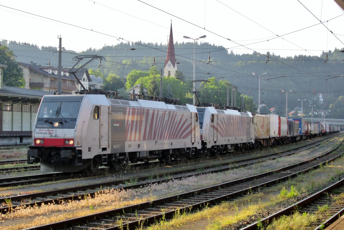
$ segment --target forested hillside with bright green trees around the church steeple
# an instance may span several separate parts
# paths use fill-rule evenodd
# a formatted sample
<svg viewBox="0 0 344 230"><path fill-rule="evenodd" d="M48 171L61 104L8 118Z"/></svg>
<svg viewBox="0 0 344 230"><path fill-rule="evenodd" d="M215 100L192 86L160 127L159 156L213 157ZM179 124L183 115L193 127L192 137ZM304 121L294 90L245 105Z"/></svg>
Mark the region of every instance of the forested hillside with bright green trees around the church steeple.
<svg viewBox="0 0 344 230"><path fill-rule="evenodd" d="M47 65L49 61L57 66L56 47L5 40L0 43L13 52L17 62ZM195 80L203 81L195 87L201 103L224 106L229 92L229 106L256 113L260 82L260 113L286 116L286 112L295 112L292 116L297 117L303 111L303 117L310 117L313 108L313 116L317 118L323 114L326 118L344 118L343 49L283 57L273 52L234 54L223 46L196 41L194 59L193 47L193 42L175 42L178 65L175 77L161 77L167 52L167 44L162 43L104 44L101 49L90 47L79 53L63 50L62 65L72 67L76 55L104 56L106 62L94 61L87 66L89 74L103 77L104 89L118 91L124 98L129 98L125 91L137 84L149 95L159 96L162 80L163 97L179 98L179 104L192 104L195 74Z"/></svg>

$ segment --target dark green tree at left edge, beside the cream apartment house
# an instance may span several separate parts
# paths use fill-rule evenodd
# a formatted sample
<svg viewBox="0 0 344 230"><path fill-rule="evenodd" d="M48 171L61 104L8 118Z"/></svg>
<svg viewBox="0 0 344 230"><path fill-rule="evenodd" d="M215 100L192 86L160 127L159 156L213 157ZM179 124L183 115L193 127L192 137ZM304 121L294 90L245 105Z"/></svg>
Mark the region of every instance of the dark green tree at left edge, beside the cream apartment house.
<svg viewBox="0 0 344 230"><path fill-rule="evenodd" d="M13 51L9 50L7 46L0 45L0 64L7 65L3 70L3 84L12 87L25 87L25 80L23 76L23 69L14 59Z"/></svg>

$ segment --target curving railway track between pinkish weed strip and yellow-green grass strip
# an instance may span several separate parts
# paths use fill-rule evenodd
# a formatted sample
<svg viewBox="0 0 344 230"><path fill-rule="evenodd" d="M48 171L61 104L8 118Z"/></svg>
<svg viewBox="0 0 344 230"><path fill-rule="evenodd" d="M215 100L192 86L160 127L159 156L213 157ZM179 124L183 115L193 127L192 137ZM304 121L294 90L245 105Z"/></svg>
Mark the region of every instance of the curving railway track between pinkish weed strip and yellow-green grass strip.
<svg viewBox="0 0 344 230"><path fill-rule="evenodd" d="M203 209L208 205L220 203L222 201L234 200L240 195L275 186L281 181L288 180L300 173L306 173L309 170L318 168L319 165L325 165L337 157L341 157L343 152L341 151L338 153L339 150L336 149L342 145L342 143L343 142L325 154L259 175L143 202L137 205L130 205L83 217L37 226L34 227L34 229L68 228L74 230L140 228L144 224L171 218L175 213L190 212Z"/></svg>

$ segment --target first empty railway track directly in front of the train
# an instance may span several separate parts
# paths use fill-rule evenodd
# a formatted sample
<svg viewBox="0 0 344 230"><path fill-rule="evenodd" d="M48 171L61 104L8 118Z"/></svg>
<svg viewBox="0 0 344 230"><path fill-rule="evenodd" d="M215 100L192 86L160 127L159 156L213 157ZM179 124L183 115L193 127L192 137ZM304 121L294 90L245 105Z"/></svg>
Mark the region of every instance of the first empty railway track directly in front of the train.
<svg viewBox="0 0 344 230"><path fill-rule="evenodd" d="M324 141L328 141L329 139L322 139L321 141L317 141L315 143L307 144L304 146L300 146L294 148L294 151L286 150L282 151L281 153L273 153L266 156L260 157L252 157L244 160L238 161L230 161L223 164L211 165L207 167L200 168L193 168L189 170L182 170L182 171L175 171L171 174L163 174L163 175L154 175L153 178L150 177L139 177L136 178L138 183L135 185L126 185L128 181L118 180L112 181L109 183L100 183L100 184L93 184L88 186L80 186L68 189L59 189L55 191L48 191L48 192L40 192L36 194L26 194L26 195L19 195L19 196L12 196L6 198L0 198L0 203L6 203L6 200L11 200L11 211L15 211L16 208L19 207L28 207L28 206L40 206L42 203L58 203L66 200L80 200L86 197L93 197L95 194L101 190L101 188L109 188L109 189L133 189L144 187L154 183L162 183L170 180L178 180L185 177L192 177L206 173L216 173L222 172L238 167L246 167L251 164L259 163L261 161L276 159L279 157L289 156L295 154L299 151L306 150L309 148L313 148L322 144ZM7 205L0 207L1 213L6 213L9 211Z"/></svg>

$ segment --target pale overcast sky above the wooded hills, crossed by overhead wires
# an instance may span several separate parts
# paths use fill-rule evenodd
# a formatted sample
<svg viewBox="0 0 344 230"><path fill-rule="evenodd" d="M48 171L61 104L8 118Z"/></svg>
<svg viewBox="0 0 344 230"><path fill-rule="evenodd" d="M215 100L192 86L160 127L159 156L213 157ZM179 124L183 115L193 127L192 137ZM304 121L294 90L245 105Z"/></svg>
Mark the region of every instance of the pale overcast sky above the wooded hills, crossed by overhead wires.
<svg viewBox="0 0 344 230"><path fill-rule="evenodd" d="M343 10L333 0L13 0L0 5L0 41L57 47L61 35L62 46L77 52L119 40L167 44L171 20L174 42L206 35L205 42L238 54L319 56L344 48Z"/></svg>

